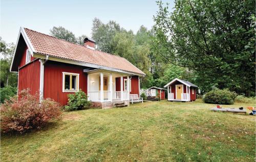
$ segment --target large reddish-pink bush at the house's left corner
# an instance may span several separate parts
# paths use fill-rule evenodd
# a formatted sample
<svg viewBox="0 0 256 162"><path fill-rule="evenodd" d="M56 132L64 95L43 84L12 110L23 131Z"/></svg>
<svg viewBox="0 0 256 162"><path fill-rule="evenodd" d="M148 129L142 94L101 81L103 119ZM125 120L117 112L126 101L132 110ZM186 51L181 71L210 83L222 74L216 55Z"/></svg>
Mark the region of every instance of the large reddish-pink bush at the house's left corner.
<svg viewBox="0 0 256 162"><path fill-rule="evenodd" d="M60 106L57 102L46 99L39 103L39 96L23 90L17 96L11 97L0 106L1 131L26 132L30 129L40 129L52 119L59 119Z"/></svg>

